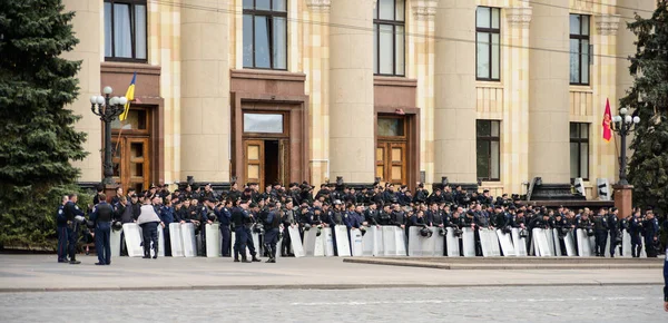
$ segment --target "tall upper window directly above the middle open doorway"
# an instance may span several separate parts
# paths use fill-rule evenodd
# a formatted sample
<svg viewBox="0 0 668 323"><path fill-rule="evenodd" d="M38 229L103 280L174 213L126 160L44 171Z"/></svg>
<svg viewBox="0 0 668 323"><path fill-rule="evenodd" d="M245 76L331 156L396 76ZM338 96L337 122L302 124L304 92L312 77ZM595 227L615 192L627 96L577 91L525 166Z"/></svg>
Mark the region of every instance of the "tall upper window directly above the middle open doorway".
<svg viewBox="0 0 668 323"><path fill-rule="evenodd" d="M287 0L244 0L244 67L287 69Z"/></svg>

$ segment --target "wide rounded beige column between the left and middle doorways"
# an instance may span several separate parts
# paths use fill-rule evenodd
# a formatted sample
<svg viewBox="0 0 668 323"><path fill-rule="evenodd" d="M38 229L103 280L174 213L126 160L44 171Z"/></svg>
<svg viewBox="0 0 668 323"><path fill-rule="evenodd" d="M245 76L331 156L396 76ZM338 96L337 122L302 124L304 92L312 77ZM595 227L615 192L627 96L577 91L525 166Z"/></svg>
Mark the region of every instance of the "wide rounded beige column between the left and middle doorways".
<svg viewBox="0 0 668 323"><path fill-rule="evenodd" d="M228 0L184 0L179 178L229 180Z"/></svg>

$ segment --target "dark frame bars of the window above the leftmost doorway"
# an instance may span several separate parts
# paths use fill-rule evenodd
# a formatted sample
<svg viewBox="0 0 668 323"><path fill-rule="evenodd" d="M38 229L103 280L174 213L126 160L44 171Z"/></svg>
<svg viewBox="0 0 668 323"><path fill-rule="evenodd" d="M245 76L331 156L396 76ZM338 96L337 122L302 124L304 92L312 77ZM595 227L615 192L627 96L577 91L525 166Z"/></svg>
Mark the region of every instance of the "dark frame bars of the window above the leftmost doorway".
<svg viewBox="0 0 668 323"><path fill-rule="evenodd" d="M105 12L105 3L111 4L111 55L105 53L105 61L125 61L125 62L148 62L148 0L104 0L102 1L102 14ZM130 6L130 43L131 43L131 56L132 57L116 57L116 28L114 25L115 6L114 4L129 4ZM146 21L146 38L144 39L144 48L146 48L146 58L137 58L137 14L135 13L136 6L144 6L144 21ZM104 22L102 22L104 23ZM102 28L104 29L104 28Z"/></svg>

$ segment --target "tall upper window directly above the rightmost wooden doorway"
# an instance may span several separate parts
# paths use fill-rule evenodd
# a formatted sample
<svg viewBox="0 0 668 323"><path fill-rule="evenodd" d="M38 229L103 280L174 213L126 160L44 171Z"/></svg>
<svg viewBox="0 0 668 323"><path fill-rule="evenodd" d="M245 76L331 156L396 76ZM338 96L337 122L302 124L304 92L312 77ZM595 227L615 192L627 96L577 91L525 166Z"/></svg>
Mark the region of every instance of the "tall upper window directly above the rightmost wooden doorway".
<svg viewBox="0 0 668 323"><path fill-rule="evenodd" d="M405 75L405 0L379 0L373 11L373 72Z"/></svg>

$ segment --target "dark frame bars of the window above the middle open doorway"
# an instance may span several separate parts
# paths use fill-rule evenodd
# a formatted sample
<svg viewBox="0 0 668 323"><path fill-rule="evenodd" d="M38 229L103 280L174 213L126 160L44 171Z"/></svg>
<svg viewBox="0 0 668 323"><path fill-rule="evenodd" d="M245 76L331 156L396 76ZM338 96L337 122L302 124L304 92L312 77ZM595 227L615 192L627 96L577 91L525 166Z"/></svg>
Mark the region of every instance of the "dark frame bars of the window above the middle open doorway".
<svg viewBox="0 0 668 323"><path fill-rule="evenodd" d="M285 1L285 11L274 11L274 10L266 10L266 9L257 9L257 0L252 0L253 1L253 9L247 9L247 8L243 8L243 13L242 13L242 19L244 16L248 14L252 17L253 23L252 23L252 35L253 35L253 39L252 39L252 43L253 43L253 66L246 66L245 63L243 63L243 61L245 60L244 58L244 52L242 50L242 65L244 69L263 69L263 70L287 70L287 66L289 62L288 59L288 48L289 48L289 40L287 39L287 36L289 33L289 30L287 28L287 6L288 0L283 0ZM243 6L243 4L242 4ZM269 0L269 8L274 8L274 0ZM256 62L256 55L255 55L255 17L256 16L261 16L261 17L266 17L267 18L267 38L269 40L269 67L257 67L257 62ZM285 68L275 68L274 67L274 18L283 18L285 19ZM243 28L243 26L242 26ZM243 32L242 32L243 33ZM242 39L243 41L243 39Z"/></svg>

